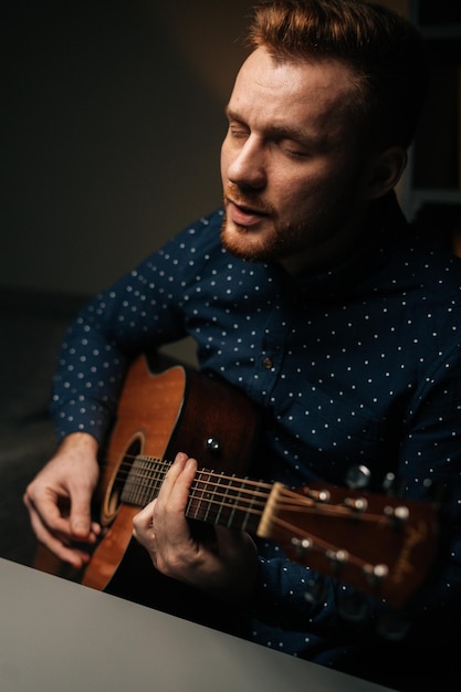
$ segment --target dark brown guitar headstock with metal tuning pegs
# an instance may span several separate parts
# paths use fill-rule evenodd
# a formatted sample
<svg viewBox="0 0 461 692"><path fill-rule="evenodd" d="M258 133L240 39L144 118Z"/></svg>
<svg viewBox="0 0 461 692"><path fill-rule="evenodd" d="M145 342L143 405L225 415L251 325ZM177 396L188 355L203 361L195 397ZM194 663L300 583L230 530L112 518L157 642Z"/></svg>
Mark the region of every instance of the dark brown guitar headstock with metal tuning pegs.
<svg viewBox="0 0 461 692"><path fill-rule="evenodd" d="M400 608L433 565L438 508L327 484L291 491L276 483L258 535L290 559Z"/></svg>

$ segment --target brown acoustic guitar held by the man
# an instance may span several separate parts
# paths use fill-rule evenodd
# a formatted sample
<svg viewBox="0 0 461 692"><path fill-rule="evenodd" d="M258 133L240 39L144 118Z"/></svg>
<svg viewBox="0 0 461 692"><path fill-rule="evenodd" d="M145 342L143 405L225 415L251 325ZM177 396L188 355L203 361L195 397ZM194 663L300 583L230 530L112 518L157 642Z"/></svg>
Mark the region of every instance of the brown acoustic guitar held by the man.
<svg viewBox="0 0 461 692"><path fill-rule="evenodd" d="M190 520L247 531L286 556L401 608L427 579L438 548L429 501L329 484L292 490L247 478L258 439L255 407L239 390L175 365L128 369L97 491L103 537L82 583L103 590L132 541L133 517L155 499L177 451L197 458ZM55 572L39 554L35 567Z"/></svg>

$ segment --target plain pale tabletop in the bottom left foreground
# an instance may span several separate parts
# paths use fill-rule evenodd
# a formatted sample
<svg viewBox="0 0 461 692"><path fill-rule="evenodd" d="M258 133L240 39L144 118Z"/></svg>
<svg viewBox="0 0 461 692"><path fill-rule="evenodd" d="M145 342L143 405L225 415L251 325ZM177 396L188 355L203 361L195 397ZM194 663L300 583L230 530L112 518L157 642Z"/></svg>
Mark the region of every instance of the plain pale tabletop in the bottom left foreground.
<svg viewBox="0 0 461 692"><path fill-rule="evenodd" d="M1 692L386 688L0 559Z"/></svg>

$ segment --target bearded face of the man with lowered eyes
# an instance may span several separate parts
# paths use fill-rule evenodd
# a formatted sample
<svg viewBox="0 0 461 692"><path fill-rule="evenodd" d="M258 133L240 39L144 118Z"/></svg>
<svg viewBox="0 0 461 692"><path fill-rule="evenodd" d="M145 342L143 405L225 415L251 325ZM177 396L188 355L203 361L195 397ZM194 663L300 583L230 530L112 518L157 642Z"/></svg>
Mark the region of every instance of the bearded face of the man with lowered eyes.
<svg viewBox="0 0 461 692"><path fill-rule="evenodd" d="M328 265L347 245L364 172L345 108L352 93L339 62L274 62L263 48L249 56L221 150L230 252L296 272Z"/></svg>

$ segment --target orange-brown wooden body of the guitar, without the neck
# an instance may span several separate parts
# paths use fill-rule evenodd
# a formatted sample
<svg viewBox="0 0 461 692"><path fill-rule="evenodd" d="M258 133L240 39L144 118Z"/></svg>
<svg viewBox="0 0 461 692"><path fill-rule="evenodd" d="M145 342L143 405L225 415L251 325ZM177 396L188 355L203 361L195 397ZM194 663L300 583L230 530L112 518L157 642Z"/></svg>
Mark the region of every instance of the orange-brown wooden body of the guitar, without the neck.
<svg viewBox="0 0 461 692"><path fill-rule="evenodd" d="M127 373L102 461L96 504L101 505L103 538L83 577L46 549L38 552L34 566L106 589L122 566L132 541L133 517L144 504L121 501L136 455L172 461L184 451L201 466L243 474L252 458L256 428L255 408L229 385L179 365L156 373L146 357L139 356ZM136 548L130 553L136 554Z"/></svg>

